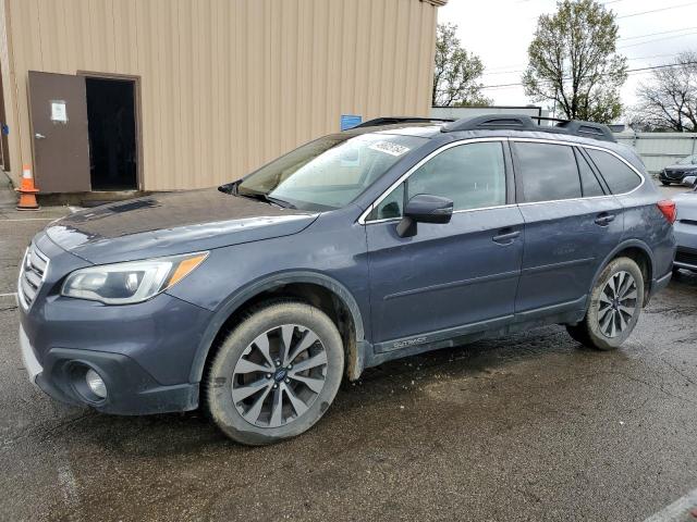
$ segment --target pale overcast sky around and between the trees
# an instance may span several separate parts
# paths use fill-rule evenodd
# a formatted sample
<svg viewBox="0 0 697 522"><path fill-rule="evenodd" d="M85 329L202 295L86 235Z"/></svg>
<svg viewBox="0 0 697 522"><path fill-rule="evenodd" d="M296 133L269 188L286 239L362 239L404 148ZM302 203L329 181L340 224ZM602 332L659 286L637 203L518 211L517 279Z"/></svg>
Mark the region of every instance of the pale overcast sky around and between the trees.
<svg viewBox="0 0 697 522"><path fill-rule="evenodd" d="M629 70L669 63L684 50L697 51L697 1L602 0L602 3L617 16L617 51L628 58ZM514 84L519 83L527 64L527 47L537 16L554 12L555 5L555 0L450 0L439 9L438 21L460 26L458 37L465 49L484 61L484 85ZM622 89L623 103L634 103L637 84L649 78L647 73L629 73ZM498 105L531 103L521 86L488 88L485 94Z"/></svg>

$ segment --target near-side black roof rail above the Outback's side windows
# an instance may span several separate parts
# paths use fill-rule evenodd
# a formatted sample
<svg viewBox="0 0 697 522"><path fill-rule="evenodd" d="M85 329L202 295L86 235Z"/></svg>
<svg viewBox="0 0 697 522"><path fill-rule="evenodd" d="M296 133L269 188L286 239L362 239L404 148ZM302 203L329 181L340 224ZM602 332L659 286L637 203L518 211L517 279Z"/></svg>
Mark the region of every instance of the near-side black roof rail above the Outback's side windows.
<svg viewBox="0 0 697 522"><path fill-rule="evenodd" d="M537 120L537 123L535 123ZM542 125L542 122L555 122L554 125ZM602 141L615 141L610 127L602 123L584 122L582 120L561 120L559 117L529 116L526 114L487 114L484 116L463 117L442 126L443 133L456 130L511 129L533 130L538 133L570 134Z"/></svg>

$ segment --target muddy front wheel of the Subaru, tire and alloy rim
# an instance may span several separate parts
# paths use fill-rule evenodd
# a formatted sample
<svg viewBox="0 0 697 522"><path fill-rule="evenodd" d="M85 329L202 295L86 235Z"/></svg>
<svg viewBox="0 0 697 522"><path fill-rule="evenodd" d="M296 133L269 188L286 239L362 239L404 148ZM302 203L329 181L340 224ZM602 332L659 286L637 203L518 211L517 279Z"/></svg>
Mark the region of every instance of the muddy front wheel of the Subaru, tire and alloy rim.
<svg viewBox="0 0 697 522"><path fill-rule="evenodd" d="M221 343L204 382L206 407L233 440L278 443L319 421L343 370L341 335L326 313L304 302L267 302Z"/></svg>

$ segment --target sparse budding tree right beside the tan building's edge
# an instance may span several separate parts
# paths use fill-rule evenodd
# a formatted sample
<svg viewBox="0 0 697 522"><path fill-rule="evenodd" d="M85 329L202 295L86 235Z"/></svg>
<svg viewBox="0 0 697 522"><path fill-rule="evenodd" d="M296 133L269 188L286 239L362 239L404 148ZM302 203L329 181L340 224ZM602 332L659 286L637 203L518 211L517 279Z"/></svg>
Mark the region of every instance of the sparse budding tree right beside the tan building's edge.
<svg viewBox="0 0 697 522"><path fill-rule="evenodd" d="M491 101L481 95L484 64L479 57L467 52L456 36L455 24L438 24L436 67L431 104L487 105Z"/></svg>

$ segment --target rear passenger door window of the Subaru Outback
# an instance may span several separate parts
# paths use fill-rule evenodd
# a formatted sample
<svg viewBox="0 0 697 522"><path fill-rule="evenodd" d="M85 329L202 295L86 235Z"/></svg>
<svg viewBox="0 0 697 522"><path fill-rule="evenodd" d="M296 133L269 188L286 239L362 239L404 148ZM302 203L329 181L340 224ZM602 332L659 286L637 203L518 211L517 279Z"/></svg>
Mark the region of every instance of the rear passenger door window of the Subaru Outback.
<svg viewBox="0 0 697 522"><path fill-rule="evenodd" d="M521 179L519 201L533 203L582 197L574 150L567 145L517 141L516 177Z"/></svg>

